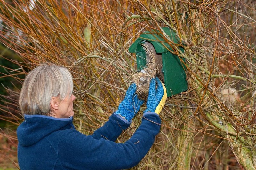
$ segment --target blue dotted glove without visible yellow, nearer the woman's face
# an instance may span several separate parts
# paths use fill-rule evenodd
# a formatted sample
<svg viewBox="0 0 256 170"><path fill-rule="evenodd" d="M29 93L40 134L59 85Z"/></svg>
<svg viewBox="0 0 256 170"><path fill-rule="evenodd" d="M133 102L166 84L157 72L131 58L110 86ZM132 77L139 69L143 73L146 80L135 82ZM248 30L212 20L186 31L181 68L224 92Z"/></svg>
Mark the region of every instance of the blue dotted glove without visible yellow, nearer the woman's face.
<svg viewBox="0 0 256 170"><path fill-rule="evenodd" d="M143 100L138 99L136 89L136 84L132 83L132 85L126 91L124 100L119 104L118 110L115 112L115 114L120 114L128 121L132 120L132 118L140 110L140 106L144 103Z"/></svg>

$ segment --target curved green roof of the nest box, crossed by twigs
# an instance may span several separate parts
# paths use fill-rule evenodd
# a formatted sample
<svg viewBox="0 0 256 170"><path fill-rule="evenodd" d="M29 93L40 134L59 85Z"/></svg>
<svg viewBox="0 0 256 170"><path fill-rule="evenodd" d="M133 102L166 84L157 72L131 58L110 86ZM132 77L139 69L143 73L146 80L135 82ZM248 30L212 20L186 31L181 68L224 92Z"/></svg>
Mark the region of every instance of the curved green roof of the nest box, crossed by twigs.
<svg viewBox="0 0 256 170"><path fill-rule="evenodd" d="M172 29L168 27L163 27L162 29L164 33L169 36L169 44L166 43L166 41L164 40L164 35L162 33L160 33L156 29L152 29L150 31L145 31L144 33L142 33L140 37L129 47L129 52L138 52L138 46L140 46L140 44L144 43L145 41L152 43L156 50L156 53L164 53L169 50L173 51L171 47L172 44L179 44L178 41L180 41L180 39L176 36L176 33L172 31Z"/></svg>

